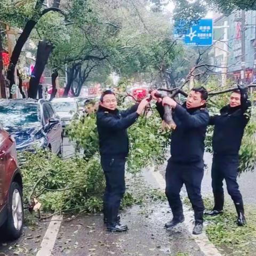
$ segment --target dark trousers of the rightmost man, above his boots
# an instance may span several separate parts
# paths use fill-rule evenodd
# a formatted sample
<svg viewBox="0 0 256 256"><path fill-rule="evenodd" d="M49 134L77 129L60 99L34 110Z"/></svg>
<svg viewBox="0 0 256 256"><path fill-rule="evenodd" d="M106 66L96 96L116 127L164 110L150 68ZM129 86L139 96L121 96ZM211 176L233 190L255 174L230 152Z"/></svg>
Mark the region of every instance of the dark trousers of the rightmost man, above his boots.
<svg viewBox="0 0 256 256"><path fill-rule="evenodd" d="M214 195L214 210L222 210L224 204L223 180L227 184L228 194L235 205L243 205L243 198L237 183L239 166L238 155L213 155L212 190Z"/></svg>

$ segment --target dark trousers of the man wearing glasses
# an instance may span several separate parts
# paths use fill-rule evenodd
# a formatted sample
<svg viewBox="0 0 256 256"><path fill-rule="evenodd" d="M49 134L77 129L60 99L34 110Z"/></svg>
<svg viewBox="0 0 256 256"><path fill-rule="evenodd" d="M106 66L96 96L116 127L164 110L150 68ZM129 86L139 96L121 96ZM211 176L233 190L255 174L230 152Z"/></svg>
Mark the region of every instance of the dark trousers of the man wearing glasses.
<svg viewBox="0 0 256 256"><path fill-rule="evenodd" d="M106 178L103 213L109 225L115 225L121 200L125 192L125 157L103 157L101 166Z"/></svg>

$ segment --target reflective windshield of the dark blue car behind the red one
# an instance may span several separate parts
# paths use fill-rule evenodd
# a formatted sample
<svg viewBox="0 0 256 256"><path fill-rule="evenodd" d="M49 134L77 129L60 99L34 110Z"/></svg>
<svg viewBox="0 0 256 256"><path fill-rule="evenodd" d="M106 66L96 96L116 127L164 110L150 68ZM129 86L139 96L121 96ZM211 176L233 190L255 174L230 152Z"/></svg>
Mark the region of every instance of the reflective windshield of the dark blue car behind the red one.
<svg viewBox="0 0 256 256"><path fill-rule="evenodd" d="M0 102L0 121L3 127L39 125L37 103L24 101Z"/></svg>

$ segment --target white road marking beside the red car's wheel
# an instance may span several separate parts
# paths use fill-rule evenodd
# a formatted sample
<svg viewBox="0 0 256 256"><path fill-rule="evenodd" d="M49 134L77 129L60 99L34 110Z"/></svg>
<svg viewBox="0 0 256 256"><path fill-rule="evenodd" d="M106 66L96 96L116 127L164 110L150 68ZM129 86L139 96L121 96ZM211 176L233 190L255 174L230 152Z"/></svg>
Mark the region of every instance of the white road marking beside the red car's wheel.
<svg viewBox="0 0 256 256"><path fill-rule="evenodd" d="M51 256L63 216L53 216L36 256Z"/></svg>

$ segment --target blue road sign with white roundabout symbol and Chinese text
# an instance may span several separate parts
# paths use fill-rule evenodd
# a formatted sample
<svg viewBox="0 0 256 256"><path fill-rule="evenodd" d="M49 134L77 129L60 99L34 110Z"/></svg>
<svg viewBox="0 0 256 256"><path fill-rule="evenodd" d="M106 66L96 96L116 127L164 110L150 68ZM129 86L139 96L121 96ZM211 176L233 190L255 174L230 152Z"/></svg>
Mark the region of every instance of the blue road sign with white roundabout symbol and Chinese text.
<svg viewBox="0 0 256 256"><path fill-rule="evenodd" d="M191 26L186 33L182 32L182 23L174 28L174 38L182 38L188 46L210 46L213 38L212 19L201 19Z"/></svg>

